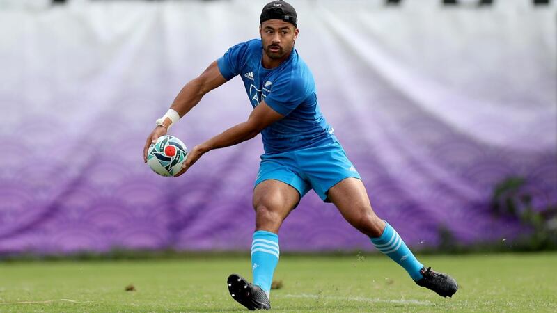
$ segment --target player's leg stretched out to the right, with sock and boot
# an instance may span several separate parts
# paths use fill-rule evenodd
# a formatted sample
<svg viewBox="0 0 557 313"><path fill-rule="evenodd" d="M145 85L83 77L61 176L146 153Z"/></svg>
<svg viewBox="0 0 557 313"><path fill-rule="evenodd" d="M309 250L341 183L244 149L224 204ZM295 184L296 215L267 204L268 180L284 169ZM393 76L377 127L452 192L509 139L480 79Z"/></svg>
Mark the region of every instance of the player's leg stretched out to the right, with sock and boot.
<svg viewBox="0 0 557 313"><path fill-rule="evenodd" d="M405 268L417 284L441 296L452 296L456 292L457 284L453 278L425 270L393 227L375 214L360 179L343 179L329 189L327 196L350 225L368 235L377 250Z"/></svg>

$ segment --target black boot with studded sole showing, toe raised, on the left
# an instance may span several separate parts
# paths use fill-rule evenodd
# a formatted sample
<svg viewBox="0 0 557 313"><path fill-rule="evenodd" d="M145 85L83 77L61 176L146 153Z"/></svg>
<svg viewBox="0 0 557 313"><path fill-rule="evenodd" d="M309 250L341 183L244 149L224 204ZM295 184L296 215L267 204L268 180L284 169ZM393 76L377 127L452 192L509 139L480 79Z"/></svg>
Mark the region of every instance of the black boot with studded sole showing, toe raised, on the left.
<svg viewBox="0 0 557 313"><path fill-rule="evenodd" d="M228 292L238 303L248 310L269 310L271 303L265 291L255 284L249 283L242 276L232 274L228 276Z"/></svg>

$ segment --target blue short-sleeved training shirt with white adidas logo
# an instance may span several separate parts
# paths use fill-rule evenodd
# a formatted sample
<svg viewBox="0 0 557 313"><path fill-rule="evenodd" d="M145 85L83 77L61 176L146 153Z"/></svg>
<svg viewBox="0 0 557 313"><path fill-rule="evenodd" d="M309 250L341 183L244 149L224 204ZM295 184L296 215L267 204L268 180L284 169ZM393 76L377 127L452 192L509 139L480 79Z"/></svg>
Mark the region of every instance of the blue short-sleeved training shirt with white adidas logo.
<svg viewBox="0 0 557 313"><path fill-rule="evenodd" d="M262 54L261 40L253 39L228 49L217 64L226 80L241 75L253 108L265 100L274 111L285 115L261 131L265 153L336 142L334 131L317 104L313 75L296 49L272 69L263 67Z"/></svg>

